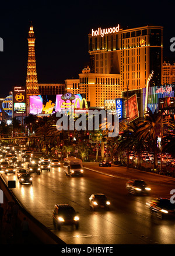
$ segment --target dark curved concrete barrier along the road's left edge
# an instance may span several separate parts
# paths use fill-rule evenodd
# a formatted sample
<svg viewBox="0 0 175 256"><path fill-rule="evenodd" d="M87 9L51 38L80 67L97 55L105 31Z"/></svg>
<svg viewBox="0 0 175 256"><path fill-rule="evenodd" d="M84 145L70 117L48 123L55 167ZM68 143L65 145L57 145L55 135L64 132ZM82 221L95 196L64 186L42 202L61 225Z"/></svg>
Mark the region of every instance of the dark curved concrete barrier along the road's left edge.
<svg viewBox="0 0 175 256"><path fill-rule="evenodd" d="M8 188L5 180L0 174L0 188L3 191L3 195L8 201L16 202L19 206L19 220L22 222L23 218L26 217L29 222L30 231L43 243L43 244L66 244L54 233L52 233L46 226L38 222L26 209L23 208L19 200L13 195L12 191Z"/></svg>

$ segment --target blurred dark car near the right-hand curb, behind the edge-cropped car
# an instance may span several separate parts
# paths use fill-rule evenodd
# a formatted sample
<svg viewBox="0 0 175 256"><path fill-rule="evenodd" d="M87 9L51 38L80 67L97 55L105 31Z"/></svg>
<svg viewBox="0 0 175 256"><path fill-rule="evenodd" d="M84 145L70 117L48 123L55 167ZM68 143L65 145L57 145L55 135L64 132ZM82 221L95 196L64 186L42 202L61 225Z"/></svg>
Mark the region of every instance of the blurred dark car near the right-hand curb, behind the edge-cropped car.
<svg viewBox="0 0 175 256"><path fill-rule="evenodd" d="M151 189L142 179L132 179L127 181L126 189L129 193L134 195L149 195Z"/></svg>

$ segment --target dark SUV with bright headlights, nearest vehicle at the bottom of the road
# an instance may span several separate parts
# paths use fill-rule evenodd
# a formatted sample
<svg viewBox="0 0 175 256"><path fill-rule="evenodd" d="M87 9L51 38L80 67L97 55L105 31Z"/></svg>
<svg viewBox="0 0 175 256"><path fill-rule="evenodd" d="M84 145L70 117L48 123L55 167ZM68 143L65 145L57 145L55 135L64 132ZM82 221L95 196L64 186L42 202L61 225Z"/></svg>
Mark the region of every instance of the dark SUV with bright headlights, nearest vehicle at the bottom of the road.
<svg viewBox="0 0 175 256"><path fill-rule="evenodd" d="M53 224L60 230L62 225L75 225L79 228L78 212L69 204L56 204L53 209Z"/></svg>

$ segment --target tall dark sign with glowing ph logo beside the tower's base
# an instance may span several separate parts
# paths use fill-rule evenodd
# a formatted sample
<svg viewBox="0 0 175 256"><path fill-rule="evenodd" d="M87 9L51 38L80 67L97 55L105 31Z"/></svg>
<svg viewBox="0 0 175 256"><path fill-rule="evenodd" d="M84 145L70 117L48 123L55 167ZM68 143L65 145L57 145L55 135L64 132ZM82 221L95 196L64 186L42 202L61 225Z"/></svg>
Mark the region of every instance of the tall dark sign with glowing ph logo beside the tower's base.
<svg viewBox="0 0 175 256"><path fill-rule="evenodd" d="M26 87L13 87L13 116L26 114Z"/></svg>

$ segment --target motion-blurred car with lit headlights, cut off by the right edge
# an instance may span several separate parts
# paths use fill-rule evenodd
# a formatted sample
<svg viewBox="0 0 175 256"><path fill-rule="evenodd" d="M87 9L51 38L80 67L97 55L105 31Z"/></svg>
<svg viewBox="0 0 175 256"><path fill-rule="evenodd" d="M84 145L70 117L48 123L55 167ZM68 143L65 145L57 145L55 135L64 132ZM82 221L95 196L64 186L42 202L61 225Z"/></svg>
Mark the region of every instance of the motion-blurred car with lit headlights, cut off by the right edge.
<svg viewBox="0 0 175 256"><path fill-rule="evenodd" d="M164 219L168 216L175 217L175 205L167 198L155 198L146 203L149 207L150 213L156 213L156 216L160 219Z"/></svg>

